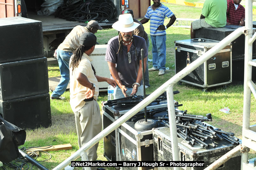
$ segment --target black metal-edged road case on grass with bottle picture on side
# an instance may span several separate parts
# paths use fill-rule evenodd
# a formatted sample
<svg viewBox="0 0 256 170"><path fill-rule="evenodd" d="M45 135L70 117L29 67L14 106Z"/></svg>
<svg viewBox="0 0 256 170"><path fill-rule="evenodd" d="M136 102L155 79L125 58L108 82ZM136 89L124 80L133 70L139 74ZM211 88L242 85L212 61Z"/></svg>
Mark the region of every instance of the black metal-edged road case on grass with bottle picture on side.
<svg viewBox="0 0 256 170"><path fill-rule="evenodd" d="M174 41L175 44L175 73L186 68L219 41L210 39L185 39ZM205 61L189 73L179 83L185 82L202 87L205 91L210 87L221 86L232 82L231 43L217 54Z"/></svg>

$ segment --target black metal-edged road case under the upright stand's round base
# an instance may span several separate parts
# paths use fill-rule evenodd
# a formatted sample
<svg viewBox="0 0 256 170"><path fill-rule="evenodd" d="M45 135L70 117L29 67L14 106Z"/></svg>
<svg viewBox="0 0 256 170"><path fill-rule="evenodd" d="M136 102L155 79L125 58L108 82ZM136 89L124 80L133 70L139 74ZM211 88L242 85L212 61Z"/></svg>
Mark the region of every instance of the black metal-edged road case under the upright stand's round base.
<svg viewBox="0 0 256 170"><path fill-rule="evenodd" d="M167 107L167 104L166 104ZM162 117L168 114L167 110L157 113L150 119ZM143 120L139 120L143 121ZM144 120L145 121L145 120ZM148 118L148 121L149 118ZM161 122L157 122L158 127L164 127ZM153 161L153 138L152 129L139 130L134 127L135 122L127 121L117 128L119 143L119 160L120 161ZM147 170L153 167L121 167L123 170Z"/></svg>

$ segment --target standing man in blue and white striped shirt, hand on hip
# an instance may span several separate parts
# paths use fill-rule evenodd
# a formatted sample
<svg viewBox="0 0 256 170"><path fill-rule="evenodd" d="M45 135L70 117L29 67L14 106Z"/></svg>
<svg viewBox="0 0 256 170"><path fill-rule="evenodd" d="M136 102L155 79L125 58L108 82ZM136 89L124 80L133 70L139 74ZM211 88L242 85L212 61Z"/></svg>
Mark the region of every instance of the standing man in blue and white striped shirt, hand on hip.
<svg viewBox="0 0 256 170"><path fill-rule="evenodd" d="M153 5L149 6L146 15L140 22L147 23L150 20L150 37L152 43L153 67L148 71L159 70L158 75L165 74L166 63L166 29L173 25L176 17L168 7L160 3L160 0L152 0ZM171 18L165 26L165 17Z"/></svg>

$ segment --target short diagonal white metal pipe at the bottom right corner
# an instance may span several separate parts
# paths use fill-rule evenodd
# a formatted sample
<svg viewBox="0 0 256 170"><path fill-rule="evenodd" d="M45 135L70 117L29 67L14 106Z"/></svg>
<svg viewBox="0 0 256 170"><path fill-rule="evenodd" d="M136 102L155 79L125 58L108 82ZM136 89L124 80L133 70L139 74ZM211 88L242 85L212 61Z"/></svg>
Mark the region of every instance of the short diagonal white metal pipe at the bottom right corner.
<svg viewBox="0 0 256 170"><path fill-rule="evenodd" d="M209 165L204 170L215 170L222 164L224 164L226 161L231 159L237 152L241 150L241 145L236 146L234 149L227 152L225 155L217 159L215 162L213 162L211 165Z"/></svg>

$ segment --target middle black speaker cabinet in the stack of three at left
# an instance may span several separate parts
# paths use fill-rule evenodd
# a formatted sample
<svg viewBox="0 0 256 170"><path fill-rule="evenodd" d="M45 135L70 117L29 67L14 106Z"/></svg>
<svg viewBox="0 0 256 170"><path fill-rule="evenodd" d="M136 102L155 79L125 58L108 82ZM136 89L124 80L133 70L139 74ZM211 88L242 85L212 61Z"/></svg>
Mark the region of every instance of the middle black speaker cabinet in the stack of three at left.
<svg viewBox="0 0 256 170"><path fill-rule="evenodd" d="M47 58L0 64L0 100L49 92Z"/></svg>

